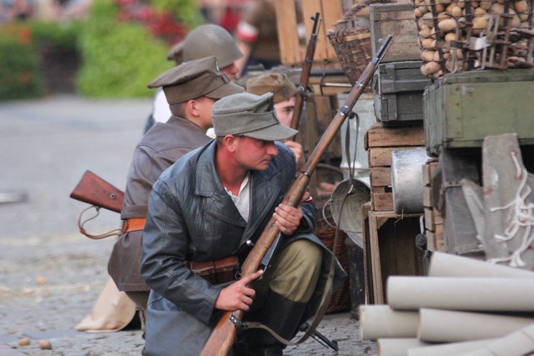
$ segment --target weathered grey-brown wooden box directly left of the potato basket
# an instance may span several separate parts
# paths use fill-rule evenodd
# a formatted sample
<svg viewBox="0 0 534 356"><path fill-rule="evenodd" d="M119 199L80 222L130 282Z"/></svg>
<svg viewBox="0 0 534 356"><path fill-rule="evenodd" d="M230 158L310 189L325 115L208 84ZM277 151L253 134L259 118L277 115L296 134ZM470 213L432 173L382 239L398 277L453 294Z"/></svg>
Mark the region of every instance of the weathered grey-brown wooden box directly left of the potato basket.
<svg viewBox="0 0 534 356"><path fill-rule="evenodd" d="M417 23L412 3L371 4L369 19L371 22L372 52L380 48L379 40L392 35L392 44L382 63L419 61L421 49L417 36Z"/></svg>

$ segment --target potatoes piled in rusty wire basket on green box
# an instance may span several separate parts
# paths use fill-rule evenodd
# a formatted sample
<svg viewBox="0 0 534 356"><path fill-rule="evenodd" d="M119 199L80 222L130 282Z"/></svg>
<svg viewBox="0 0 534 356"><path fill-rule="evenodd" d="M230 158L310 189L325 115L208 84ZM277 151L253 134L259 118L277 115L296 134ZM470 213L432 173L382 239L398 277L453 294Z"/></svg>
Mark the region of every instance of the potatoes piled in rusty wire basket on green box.
<svg viewBox="0 0 534 356"><path fill-rule="evenodd" d="M533 20L529 18L532 1L414 0L424 62L422 73L439 78L446 73L484 68L488 63L493 68L532 67L532 63L525 63L528 41L534 41ZM510 28L509 45L502 51L506 28ZM483 51L475 43L469 46L474 42L470 38L480 36L487 36L486 43L497 50Z"/></svg>

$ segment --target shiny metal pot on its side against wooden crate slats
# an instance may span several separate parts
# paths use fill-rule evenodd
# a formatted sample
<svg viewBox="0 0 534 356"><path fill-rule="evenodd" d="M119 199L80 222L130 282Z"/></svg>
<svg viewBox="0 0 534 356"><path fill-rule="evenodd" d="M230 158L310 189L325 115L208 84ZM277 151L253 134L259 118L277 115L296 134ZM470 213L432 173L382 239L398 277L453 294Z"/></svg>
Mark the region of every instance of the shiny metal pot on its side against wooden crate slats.
<svg viewBox="0 0 534 356"><path fill-rule="evenodd" d="M396 214L424 212L423 164L428 159L425 149L391 153L393 209Z"/></svg>

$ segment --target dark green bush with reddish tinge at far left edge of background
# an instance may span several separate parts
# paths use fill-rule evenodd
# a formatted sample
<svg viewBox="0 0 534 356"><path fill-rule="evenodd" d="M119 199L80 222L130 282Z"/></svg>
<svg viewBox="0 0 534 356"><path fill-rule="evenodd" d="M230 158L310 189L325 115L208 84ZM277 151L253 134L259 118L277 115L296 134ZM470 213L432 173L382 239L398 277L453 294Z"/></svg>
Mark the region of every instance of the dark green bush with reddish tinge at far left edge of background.
<svg viewBox="0 0 534 356"><path fill-rule="evenodd" d="M16 35L0 35L0 100L39 98L43 95L41 60L32 43Z"/></svg>

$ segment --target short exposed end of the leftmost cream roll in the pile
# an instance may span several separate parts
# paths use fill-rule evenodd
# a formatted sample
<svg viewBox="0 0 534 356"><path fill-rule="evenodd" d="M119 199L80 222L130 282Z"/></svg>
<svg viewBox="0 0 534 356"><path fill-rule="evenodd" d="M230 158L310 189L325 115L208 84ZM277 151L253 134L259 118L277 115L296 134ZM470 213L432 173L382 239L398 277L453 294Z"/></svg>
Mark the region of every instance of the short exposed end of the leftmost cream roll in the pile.
<svg viewBox="0 0 534 356"><path fill-rule="evenodd" d="M362 340L385 337L416 337L419 313L396 311L388 305L360 305Z"/></svg>

